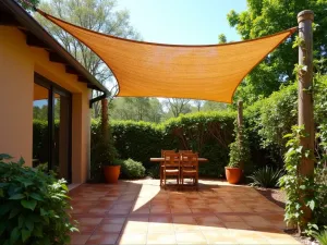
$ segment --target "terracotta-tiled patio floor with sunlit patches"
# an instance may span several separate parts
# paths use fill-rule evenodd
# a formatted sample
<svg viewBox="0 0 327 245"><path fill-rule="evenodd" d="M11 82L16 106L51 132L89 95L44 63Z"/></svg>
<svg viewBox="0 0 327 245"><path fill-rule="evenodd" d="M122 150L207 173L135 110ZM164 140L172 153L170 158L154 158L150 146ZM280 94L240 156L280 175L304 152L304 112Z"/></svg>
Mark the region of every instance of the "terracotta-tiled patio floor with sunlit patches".
<svg viewBox="0 0 327 245"><path fill-rule="evenodd" d="M283 209L255 189L202 181L199 192L159 181L84 184L71 192L81 233L71 244L299 244Z"/></svg>

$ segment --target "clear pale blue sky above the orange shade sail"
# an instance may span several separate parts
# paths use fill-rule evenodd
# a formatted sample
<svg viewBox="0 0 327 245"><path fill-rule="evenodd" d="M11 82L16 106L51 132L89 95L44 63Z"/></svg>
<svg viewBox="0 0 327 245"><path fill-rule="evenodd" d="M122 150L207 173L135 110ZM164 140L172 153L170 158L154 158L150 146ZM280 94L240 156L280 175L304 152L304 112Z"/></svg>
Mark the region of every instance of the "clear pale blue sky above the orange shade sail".
<svg viewBox="0 0 327 245"><path fill-rule="evenodd" d="M210 45L221 33L228 41L240 40L227 14L245 10L246 0L118 0L118 8L130 11L145 41Z"/></svg>

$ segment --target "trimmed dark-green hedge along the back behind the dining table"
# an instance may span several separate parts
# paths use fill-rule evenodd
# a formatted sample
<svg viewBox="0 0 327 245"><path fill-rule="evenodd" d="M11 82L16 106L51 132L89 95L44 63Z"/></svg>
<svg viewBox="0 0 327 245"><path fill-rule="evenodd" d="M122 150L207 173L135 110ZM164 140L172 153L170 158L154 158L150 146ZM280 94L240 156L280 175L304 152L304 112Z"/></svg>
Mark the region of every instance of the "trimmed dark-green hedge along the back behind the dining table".
<svg viewBox="0 0 327 245"><path fill-rule="evenodd" d="M234 112L186 114L162 124L134 121L113 121L111 131L119 157L140 161L150 171L161 149L192 149L209 162L201 164L199 173L221 176L228 163L228 145L233 140ZM92 144L98 139L99 123L92 123Z"/></svg>

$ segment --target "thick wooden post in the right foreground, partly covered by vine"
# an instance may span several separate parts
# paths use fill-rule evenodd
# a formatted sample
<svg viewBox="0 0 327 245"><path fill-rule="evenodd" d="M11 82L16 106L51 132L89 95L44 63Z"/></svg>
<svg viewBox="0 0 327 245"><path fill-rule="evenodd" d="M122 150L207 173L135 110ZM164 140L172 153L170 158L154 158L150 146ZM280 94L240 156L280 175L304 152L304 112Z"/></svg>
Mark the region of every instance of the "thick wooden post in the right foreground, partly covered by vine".
<svg viewBox="0 0 327 245"><path fill-rule="evenodd" d="M299 37L304 40L304 45L299 47L299 126L304 125L306 137L301 138L303 150L310 150L314 154L314 115L313 115L313 34L312 23L314 13L311 10L301 11L298 14ZM303 157L299 167L299 174L302 176L312 176L314 174L314 160ZM306 195L306 194L304 194ZM312 212L305 207L304 222L307 222Z"/></svg>

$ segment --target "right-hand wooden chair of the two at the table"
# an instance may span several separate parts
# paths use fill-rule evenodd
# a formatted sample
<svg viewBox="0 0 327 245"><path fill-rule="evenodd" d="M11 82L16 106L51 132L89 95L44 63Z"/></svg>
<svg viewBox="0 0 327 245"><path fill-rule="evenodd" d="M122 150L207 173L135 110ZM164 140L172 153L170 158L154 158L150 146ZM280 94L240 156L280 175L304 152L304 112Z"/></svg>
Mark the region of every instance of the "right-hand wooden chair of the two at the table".
<svg viewBox="0 0 327 245"><path fill-rule="evenodd" d="M198 155L197 154L182 154L181 157L181 181L184 186L184 179L193 180L193 185L198 191Z"/></svg>

